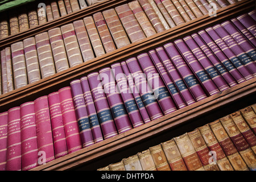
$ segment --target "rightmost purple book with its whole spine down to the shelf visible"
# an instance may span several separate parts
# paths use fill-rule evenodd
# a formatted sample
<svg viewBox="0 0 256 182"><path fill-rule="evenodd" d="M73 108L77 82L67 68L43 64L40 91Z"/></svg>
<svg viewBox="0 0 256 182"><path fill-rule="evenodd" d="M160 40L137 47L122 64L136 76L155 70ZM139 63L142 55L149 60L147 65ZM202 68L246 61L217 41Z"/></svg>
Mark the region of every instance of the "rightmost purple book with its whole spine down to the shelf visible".
<svg viewBox="0 0 256 182"><path fill-rule="evenodd" d="M242 64L242 62L237 58L234 52L228 47L228 45L221 39L221 37L217 34L216 31L213 30L212 27L205 29L210 37L214 40L214 42L218 45L221 51L228 57L231 63L240 71L241 75L249 80L253 78L250 71Z"/></svg>

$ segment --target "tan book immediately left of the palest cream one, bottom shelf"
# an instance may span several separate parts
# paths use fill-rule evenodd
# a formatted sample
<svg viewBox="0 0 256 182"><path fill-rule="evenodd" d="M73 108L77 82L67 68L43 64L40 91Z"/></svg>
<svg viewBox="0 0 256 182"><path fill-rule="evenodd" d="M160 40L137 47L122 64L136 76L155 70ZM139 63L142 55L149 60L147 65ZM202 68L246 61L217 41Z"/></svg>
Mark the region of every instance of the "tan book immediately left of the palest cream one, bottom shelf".
<svg viewBox="0 0 256 182"><path fill-rule="evenodd" d="M174 139L161 143L172 171L188 171Z"/></svg>

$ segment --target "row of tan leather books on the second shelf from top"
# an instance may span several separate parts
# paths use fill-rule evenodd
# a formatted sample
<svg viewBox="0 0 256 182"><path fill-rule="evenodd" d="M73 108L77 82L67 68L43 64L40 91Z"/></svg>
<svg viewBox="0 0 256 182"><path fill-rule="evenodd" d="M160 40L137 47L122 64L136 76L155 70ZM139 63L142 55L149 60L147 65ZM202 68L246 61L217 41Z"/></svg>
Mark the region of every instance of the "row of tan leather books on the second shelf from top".
<svg viewBox="0 0 256 182"><path fill-rule="evenodd" d="M177 0L173 1L176 1L175 5L179 3ZM184 0L181 1L185 3ZM200 12L197 17L203 15L199 10L199 7L204 7L203 5L199 7L195 5L192 8L194 2L186 1L189 2L191 10ZM152 3L155 6L151 6ZM180 4L175 7L171 0L157 1L157 3L162 5L160 10L169 12L165 15L170 21L175 22L173 26L185 22L181 17L185 15L185 11L178 12L182 8ZM160 11L156 13L156 8L158 7L153 0L131 1L115 9L86 16L73 23L52 28L47 32L11 44L10 47L1 51L2 93L52 76L94 57L166 30L167 28L164 28L158 18ZM188 12L192 14L191 10ZM196 18L196 16L193 17Z"/></svg>

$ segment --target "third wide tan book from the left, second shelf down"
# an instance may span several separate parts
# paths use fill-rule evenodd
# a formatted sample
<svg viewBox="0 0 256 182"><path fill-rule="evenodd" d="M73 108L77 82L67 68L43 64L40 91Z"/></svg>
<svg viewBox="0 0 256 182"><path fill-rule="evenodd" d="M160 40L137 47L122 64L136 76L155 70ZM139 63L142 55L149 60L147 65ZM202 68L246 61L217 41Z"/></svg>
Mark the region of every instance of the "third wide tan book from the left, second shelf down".
<svg viewBox="0 0 256 182"><path fill-rule="evenodd" d="M54 75L56 71L48 32L42 32L35 35L35 40L42 78Z"/></svg>

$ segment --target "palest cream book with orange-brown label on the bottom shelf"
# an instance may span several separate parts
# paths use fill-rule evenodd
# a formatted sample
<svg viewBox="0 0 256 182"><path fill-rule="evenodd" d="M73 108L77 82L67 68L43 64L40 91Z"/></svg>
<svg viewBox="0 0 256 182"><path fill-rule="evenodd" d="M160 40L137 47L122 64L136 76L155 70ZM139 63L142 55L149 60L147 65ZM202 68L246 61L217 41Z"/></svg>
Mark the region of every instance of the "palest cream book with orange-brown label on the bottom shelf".
<svg viewBox="0 0 256 182"><path fill-rule="evenodd" d="M187 166L188 171L205 171L203 164L201 163L199 156L196 154L195 148L185 133L179 137L174 138L180 154Z"/></svg>

